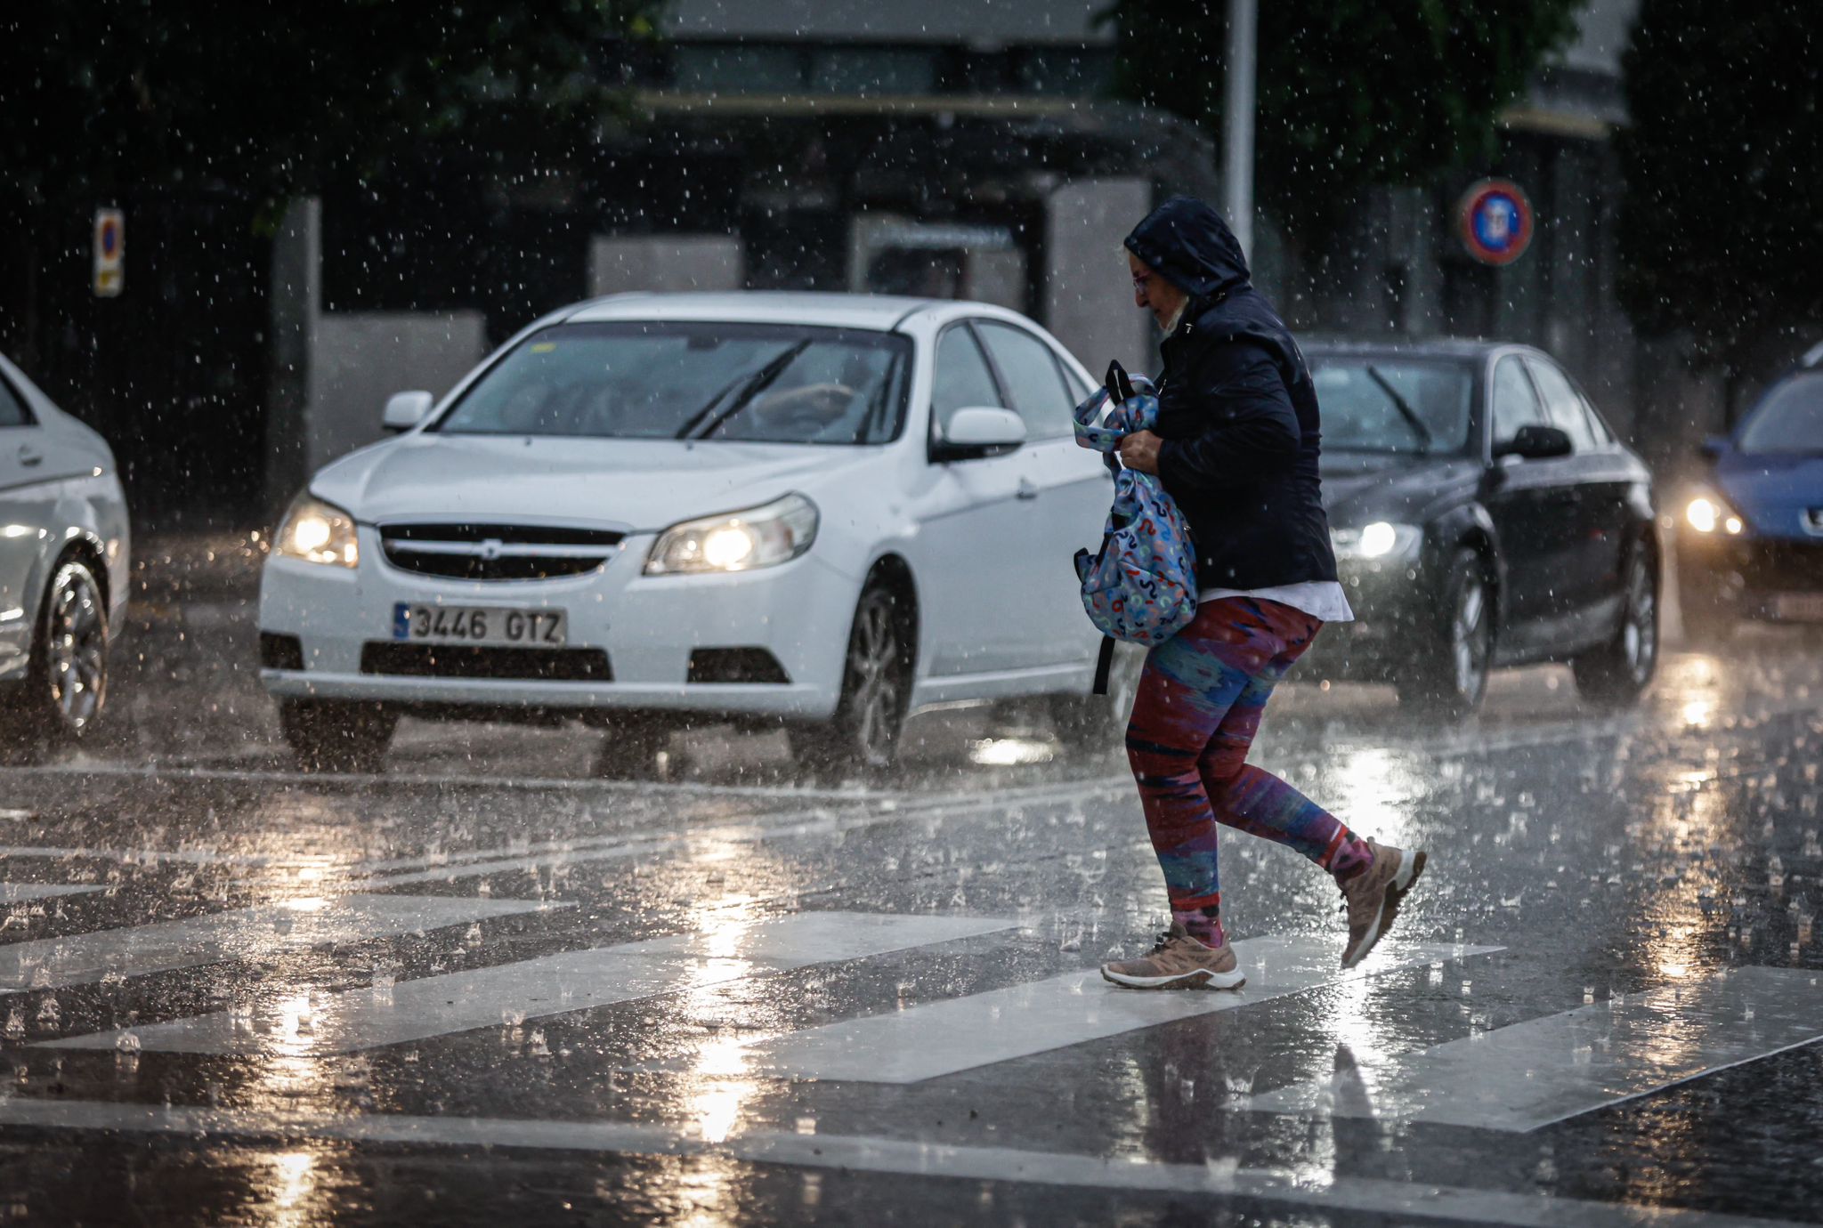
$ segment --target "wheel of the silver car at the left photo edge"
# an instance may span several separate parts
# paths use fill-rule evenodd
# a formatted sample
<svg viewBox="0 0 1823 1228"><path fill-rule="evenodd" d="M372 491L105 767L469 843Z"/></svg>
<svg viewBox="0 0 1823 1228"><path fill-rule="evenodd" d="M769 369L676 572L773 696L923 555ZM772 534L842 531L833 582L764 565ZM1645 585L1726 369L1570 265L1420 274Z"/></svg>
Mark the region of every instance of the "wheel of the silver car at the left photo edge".
<svg viewBox="0 0 1823 1228"><path fill-rule="evenodd" d="M64 558L51 572L26 680L9 700L0 723L13 758L36 760L95 732L108 701L108 601L82 559Z"/></svg>

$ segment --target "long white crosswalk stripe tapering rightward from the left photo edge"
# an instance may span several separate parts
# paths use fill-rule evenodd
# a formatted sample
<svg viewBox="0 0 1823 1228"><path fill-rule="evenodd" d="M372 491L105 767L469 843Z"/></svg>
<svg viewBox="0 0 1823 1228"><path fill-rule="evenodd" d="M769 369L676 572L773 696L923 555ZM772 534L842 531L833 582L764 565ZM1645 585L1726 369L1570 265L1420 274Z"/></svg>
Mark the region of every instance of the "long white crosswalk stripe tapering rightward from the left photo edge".
<svg viewBox="0 0 1823 1228"><path fill-rule="evenodd" d="M534 900L348 895L36 938L0 946L0 993L80 986L108 973L142 977L202 964L266 958L332 942L365 942L536 913L541 907L552 906Z"/></svg>

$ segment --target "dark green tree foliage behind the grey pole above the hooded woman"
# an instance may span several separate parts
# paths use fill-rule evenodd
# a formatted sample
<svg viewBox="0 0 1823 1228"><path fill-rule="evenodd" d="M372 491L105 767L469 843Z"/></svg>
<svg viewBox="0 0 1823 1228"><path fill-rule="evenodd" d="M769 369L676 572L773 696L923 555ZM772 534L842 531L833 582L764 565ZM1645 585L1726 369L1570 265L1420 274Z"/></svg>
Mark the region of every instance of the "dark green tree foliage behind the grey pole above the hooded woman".
<svg viewBox="0 0 1823 1228"><path fill-rule="evenodd" d="M1495 118L1575 35L1586 0L1262 0L1260 202L1322 231L1364 184L1415 184L1491 155ZM1220 137L1223 0L1116 0L1121 93Z"/></svg>

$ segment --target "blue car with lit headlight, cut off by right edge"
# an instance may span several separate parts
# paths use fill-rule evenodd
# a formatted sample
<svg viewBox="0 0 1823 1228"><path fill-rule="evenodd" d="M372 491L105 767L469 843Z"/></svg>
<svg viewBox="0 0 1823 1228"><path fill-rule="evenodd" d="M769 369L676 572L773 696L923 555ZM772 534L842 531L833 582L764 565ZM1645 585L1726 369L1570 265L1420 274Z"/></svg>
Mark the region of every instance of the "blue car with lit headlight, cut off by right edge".
<svg viewBox="0 0 1823 1228"><path fill-rule="evenodd" d="M1708 479L1677 521L1684 629L1823 623L1823 346L1703 452Z"/></svg>

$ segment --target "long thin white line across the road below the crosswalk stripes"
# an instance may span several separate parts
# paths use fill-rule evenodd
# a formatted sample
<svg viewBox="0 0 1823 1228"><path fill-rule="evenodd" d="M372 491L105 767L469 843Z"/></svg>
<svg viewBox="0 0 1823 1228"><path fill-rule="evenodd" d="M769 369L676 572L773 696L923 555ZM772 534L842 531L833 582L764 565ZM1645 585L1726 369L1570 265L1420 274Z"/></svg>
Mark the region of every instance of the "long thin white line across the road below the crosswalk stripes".
<svg viewBox="0 0 1823 1228"><path fill-rule="evenodd" d="M1019 1148L942 1146L910 1139L800 1135L773 1130L707 1139L700 1130L614 1121L538 1121L521 1117L414 1117L405 1113L264 1113L193 1106L122 1104L117 1100L0 1099L0 1128L155 1133L197 1141L253 1139L266 1142L324 1141L383 1146L514 1148L582 1151L585 1155L689 1155L751 1164L891 1173L952 1181L999 1181L1070 1190L1251 1199L1316 1213L1360 1213L1395 1223L1444 1221L1513 1224L1519 1228L1794 1228L1788 1221L1695 1212L1675 1206L1630 1206L1382 1181L1347 1173L1291 1173L1221 1162L1159 1164L1152 1161L1026 1151Z"/></svg>

